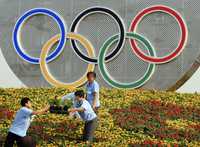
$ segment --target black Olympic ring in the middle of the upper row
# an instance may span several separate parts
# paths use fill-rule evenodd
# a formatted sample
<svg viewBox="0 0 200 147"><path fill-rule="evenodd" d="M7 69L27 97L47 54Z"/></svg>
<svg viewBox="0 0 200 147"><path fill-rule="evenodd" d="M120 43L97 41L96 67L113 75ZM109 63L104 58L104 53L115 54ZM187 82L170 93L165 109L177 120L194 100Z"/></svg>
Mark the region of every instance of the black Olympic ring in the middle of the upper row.
<svg viewBox="0 0 200 147"><path fill-rule="evenodd" d="M87 15L92 14L94 12L104 12L106 14L108 14L109 16L112 16L115 21L118 23L119 29L120 29L120 35L119 35L119 41L117 43L117 46L115 47L115 49L106 56L105 60L109 61L111 59L113 59L115 56L118 55L118 53L120 52L124 42L125 42L125 27L123 24L123 21L121 20L121 18L113 11L110 10L108 8L105 7L91 7L88 8L84 11L82 11L78 16L76 16L76 18L74 19L74 21L72 22L71 25L71 32L75 32L76 31L76 26L80 23L80 21ZM94 58L89 58L88 56L84 55L79 48L77 47L76 41L71 39L71 46L74 49L75 53L84 61L89 62L89 63L95 63L97 64L97 59Z"/></svg>

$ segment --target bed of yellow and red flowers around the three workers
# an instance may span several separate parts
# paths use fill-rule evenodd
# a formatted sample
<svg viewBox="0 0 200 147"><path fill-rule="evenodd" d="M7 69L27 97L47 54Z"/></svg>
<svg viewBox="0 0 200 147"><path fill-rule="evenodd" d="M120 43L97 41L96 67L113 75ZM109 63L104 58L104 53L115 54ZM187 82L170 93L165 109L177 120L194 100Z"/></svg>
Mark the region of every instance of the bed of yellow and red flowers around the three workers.
<svg viewBox="0 0 200 147"><path fill-rule="evenodd" d="M40 109L61 88L0 89L0 146L21 97ZM101 89L99 126L94 146L200 146L200 95L142 90ZM83 122L68 115L37 116L28 134L38 146L84 146Z"/></svg>

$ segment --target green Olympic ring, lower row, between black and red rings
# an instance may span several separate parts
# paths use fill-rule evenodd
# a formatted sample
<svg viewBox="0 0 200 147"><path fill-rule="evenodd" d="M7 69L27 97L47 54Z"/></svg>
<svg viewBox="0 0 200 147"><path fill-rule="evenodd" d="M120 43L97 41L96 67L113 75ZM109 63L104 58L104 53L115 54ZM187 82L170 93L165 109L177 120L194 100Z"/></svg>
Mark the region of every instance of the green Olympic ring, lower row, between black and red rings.
<svg viewBox="0 0 200 147"><path fill-rule="evenodd" d="M146 46L146 49L148 49L148 52L151 56L155 57L156 53L155 50L152 48L152 45L142 36L135 34L135 33L126 33L126 38L133 38L137 39L140 41L142 44ZM149 63L148 69L146 70L145 74L143 77L141 77L139 80L136 80L131 83L121 83L118 81L115 81L107 71L105 67L105 56L106 56L106 51L108 48L115 43L118 40L118 35L114 35L111 38L109 38L101 47L99 57L98 57L98 65L99 65L99 71L104 78L104 80L111 86L116 87L116 88L139 88L142 85L144 85L152 76L155 70L155 64Z"/></svg>

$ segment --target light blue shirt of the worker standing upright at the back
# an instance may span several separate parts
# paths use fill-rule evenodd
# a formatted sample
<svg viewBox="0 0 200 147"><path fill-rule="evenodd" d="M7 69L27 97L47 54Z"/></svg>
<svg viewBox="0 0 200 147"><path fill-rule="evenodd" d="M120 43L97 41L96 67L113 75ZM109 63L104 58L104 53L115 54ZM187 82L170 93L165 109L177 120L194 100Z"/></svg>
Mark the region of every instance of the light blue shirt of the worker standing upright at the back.
<svg viewBox="0 0 200 147"><path fill-rule="evenodd" d="M99 84L94 81L93 83L87 82L86 84L86 93L87 93L87 101L90 103L90 105L93 105L94 101L94 95L93 93L96 92L96 107L100 107L100 101L99 101Z"/></svg>

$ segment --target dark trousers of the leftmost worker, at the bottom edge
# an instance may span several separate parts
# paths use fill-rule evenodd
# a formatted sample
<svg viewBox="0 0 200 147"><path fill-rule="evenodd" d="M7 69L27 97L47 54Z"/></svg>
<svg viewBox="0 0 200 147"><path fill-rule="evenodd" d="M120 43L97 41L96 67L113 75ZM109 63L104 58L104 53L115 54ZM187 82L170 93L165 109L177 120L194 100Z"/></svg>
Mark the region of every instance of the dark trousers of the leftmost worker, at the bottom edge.
<svg viewBox="0 0 200 147"><path fill-rule="evenodd" d="M36 146L36 142L30 136L21 137L14 133L8 132L4 147L13 147L15 141L18 147Z"/></svg>

